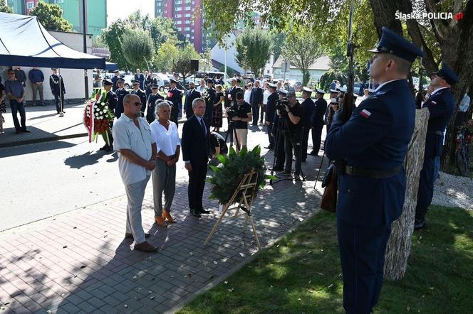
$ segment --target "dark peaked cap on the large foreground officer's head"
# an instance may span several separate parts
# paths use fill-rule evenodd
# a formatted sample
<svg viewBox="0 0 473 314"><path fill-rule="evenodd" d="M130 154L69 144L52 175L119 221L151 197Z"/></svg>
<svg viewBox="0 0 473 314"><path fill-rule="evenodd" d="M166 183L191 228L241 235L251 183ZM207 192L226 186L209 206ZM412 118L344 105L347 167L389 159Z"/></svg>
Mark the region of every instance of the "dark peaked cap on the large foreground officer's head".
<svg viewBox="0 0 473 314"><path fill-rule="evenodd" d="M418 56L422 57L424 55L422 50L417 48L416 45L402 38L402 36L391 31L389 28L383 26L381 30L383 34L381 35L380 42L375 48L368 51L372 53L390 53L410 63L413 63Z"/></svg>

